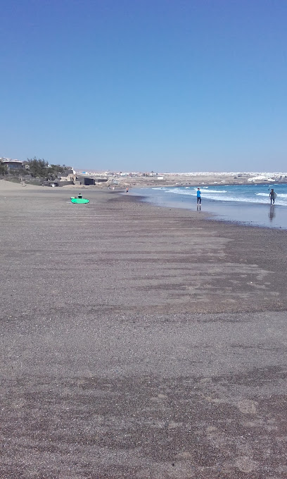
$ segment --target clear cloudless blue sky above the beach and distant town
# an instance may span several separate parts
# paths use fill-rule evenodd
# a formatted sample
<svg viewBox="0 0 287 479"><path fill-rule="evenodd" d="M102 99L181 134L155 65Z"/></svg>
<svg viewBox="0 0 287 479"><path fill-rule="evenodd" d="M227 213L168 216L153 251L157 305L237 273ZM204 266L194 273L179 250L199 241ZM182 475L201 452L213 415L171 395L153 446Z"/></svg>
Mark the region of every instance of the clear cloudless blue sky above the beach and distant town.
<svg viewBox="0 0 287 479"><path fill-rule="evenodd" d="M287 170L286 0L0 0L0 156Z"/></svg>

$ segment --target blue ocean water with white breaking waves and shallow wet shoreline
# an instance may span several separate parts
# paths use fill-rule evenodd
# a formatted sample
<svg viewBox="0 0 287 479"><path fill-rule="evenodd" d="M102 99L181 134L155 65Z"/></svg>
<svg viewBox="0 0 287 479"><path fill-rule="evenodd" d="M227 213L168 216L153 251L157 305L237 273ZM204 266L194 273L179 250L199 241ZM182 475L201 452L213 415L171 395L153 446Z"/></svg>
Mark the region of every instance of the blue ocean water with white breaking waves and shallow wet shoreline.
<svg viewBox="0 0 287 479"><path fill-rule="evenodd" d="M198 185L199 186L199 185ZM270 205L269 192L276 192ZM132 189L145 201L158 206L210 213L210 218L247 225L287 229L287 184L200 186L201 207L196 204L197 187L151 187Z"/></svg>

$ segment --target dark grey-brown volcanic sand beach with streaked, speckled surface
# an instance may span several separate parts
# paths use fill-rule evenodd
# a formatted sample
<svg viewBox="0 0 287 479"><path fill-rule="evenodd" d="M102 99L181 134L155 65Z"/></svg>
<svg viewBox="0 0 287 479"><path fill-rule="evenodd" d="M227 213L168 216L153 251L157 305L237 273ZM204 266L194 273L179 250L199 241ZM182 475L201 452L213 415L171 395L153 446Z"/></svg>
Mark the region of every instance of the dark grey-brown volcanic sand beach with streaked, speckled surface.
<svg viewBox="0 0 287 479"><path fill-rule="evenodd" d="M287 478L287 232L0 190L3 479Z"/></svg>

